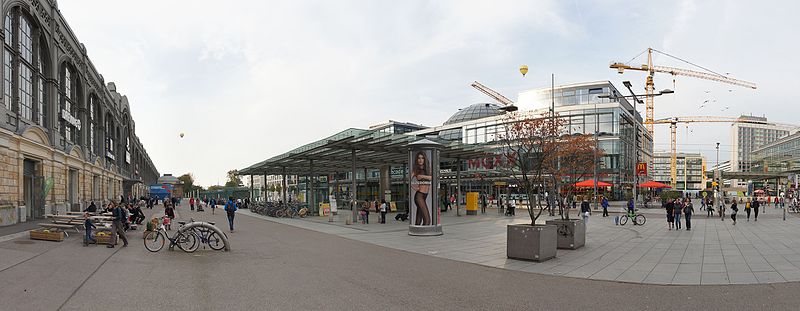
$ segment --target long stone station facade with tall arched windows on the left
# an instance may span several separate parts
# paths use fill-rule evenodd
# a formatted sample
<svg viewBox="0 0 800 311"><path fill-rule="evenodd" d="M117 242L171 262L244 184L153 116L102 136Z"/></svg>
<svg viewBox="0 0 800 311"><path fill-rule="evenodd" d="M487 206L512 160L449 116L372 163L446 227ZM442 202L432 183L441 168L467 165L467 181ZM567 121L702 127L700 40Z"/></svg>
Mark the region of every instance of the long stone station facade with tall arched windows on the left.
<svg viewBox="0 0 800 311"><path fill-rule="evenodd" d="M144 195L158 171L126 96L55 0L0 0L0 226Z"/></svg>

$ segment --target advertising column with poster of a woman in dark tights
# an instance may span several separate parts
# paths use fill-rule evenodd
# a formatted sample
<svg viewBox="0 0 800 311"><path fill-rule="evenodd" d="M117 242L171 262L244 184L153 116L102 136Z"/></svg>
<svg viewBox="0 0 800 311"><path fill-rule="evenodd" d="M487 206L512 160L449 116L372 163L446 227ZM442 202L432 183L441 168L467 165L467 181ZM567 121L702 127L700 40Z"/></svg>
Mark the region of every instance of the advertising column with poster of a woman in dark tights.
<svg viewBox="0 0 800 311"><path fill-rule="evenodd" d="M427 139L409 144L409 235L442 235L438 207L441 146Z"/></svg>

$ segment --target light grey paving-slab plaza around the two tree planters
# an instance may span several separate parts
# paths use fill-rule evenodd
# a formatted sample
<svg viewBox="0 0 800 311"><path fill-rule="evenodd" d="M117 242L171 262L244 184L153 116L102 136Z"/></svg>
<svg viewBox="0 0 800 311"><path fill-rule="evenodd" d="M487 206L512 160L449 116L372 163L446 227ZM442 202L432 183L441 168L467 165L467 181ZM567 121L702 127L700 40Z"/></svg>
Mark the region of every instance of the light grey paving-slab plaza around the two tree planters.
<svg viewBox="0 0 800 311"><path fill-rule="evenodd" d="M589 220L586 246L558 250L555 259L534 263L506 258L506 225L527 221L525 210L514 218L490 209L477 216L442 213L444 235L412 237L407 223L388 219L378 224L345 225L350 211L334 222L327 217L263 218L300 228L335 234L409 252L522 272L630 283L706 285L800 281L800 218L768 207L759 221L740 213L730 218L696 214L692 231L668 230L660 209L645 210L644 226L614 225L612 217L595 212ZM393 214L390 214L390 216ZM727 215L726 215L727 217ZM543 216L542 218L547 218ZM540 221L544 221L540 219Z"/></svg>

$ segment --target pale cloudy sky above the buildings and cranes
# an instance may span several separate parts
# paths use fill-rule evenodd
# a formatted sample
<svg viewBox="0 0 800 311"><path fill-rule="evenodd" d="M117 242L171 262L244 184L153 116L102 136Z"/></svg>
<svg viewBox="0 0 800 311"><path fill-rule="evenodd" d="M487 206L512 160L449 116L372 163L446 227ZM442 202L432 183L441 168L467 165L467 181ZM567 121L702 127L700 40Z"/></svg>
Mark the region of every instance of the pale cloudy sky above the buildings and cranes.
<svg viewBox="0 0 800 311"><path fill-rule="evenodd" d="M644 93L644 73L608 65L648 47L758 84L657 74L656 90L675 94L656 98L656 119L800 123L790 91L800 86L796 1L62 0L59 9L105 81L128 96L159 172L192 173L203 186L347 128L440 125L491 102L472 81L512 100L549 86L551 74L556 85L609 80L624 90L628 80ZM710 165L716 142L727 160L729 124L678 127L679 151ZM669 150L668 126L656 126L654 144Z"/></svg>

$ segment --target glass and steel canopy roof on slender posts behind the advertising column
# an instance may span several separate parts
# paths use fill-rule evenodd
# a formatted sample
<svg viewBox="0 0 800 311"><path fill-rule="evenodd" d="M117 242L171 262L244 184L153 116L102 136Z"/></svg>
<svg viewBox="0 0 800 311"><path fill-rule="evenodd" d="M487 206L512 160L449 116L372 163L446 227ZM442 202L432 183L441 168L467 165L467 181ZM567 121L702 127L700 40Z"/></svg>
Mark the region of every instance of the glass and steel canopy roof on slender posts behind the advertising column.
<svg viewBox="0 0 800 311"><path fill-rule="evenodd" d="M347 129L327 138L305 144L286 153L239 170L239 175L311 175L348 172L356 168L380 168L408 162L409 144L430 139L442 144L440 158L472 159L491 153L487 145L466 145L457 141L440 141L405 134L374 130Z"/></svg>

